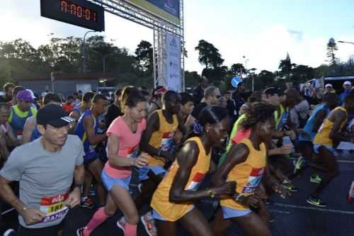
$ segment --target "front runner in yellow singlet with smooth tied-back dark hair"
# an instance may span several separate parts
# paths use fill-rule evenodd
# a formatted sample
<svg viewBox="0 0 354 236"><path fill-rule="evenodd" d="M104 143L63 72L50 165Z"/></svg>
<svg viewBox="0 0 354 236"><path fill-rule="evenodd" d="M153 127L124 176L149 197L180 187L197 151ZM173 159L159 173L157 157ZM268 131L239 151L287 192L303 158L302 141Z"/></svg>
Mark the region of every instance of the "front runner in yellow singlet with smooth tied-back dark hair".
<svg viewBox="0 0 354 236"><path fill-rule="evenodd" d="M159 235L177 235L178 223L195 236L211 236L212 229L205 217L194 207L202 198L233 194L233 181L198 190L202 179L214 166L210 159L212 147L221 145L227 137L227 109L207 106L200 112L198 137L190 137L178 152L169 172L164 176L152 198L153 217Z"/></svg>

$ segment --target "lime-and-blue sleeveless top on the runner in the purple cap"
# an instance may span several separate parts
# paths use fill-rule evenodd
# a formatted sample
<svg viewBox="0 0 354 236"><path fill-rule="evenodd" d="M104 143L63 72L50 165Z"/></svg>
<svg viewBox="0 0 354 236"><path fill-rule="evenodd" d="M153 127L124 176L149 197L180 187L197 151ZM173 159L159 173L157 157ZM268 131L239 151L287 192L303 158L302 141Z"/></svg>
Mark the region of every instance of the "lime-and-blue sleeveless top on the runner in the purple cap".
<svg viewBox="0 0 354 236"><path fill-rule="evenodd" d="M8 123L11 125L13 134L21 137L23 133L23 126L25 125L25 120L27 118L35 115L37 110L34 107L30 107L28 111L21 111L18 105L11 106L11 114L8 118Z"/></svg>

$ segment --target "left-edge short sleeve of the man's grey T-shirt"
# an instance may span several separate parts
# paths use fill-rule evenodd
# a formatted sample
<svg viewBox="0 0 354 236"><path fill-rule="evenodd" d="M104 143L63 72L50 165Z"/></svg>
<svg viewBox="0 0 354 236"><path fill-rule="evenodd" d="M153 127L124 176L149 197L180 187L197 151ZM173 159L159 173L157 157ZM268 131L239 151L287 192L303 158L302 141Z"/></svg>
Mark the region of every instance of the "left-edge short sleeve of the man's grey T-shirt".
<svg viewBox="0 0 354 236"><path fill-rule="evenodd" d="M9 181L19 181L25 171L21 150L17 147L8 157L4 167L0 171L0 175Z"/></svg>

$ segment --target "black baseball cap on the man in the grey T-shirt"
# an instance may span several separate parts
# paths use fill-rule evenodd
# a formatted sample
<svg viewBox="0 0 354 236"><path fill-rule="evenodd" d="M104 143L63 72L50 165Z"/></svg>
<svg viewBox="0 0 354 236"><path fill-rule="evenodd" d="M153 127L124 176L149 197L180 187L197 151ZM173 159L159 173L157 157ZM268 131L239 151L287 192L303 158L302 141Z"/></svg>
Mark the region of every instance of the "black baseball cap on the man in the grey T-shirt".
<svg viewBox="0 0 354 236"><path fill-rule="evenodd" d="M55 128L61 128L75 121L57 104L43 106L38 110L36 118L38 125L52 125Z"/></svg>

